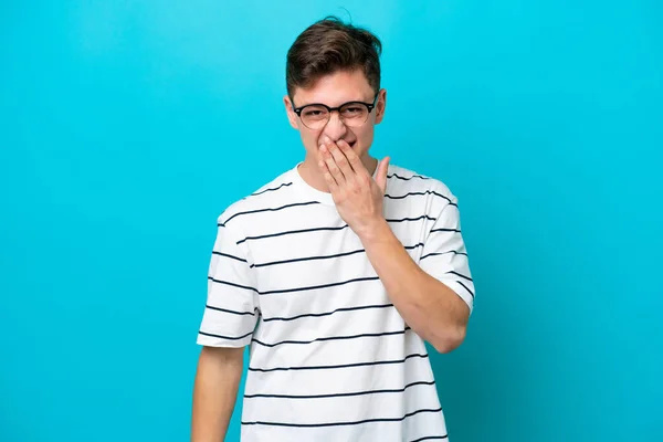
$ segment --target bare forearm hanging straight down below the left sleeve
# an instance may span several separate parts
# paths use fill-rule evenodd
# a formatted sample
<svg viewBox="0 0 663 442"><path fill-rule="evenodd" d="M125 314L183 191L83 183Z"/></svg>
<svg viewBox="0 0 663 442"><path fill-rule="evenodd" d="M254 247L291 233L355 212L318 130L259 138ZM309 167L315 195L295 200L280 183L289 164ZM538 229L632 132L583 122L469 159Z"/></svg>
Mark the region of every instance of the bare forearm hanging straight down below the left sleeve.
<svg viewBox="0 0 663 442"><path fill-rule="evenodd" d="M192 442L222 442L242 377L242 348L203 347L196 372Z"/></svg>

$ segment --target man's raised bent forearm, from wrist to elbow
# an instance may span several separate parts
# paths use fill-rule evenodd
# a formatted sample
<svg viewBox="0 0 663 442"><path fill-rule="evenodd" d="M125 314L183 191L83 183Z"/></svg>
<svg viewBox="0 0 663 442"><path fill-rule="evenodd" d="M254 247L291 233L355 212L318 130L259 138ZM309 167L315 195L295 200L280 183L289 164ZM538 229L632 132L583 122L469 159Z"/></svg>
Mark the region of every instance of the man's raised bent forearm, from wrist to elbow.
<svg viewBox="0 0 663 442"><path fill-rule="evenodd" d="M410 257L387 222L371 229L361 241L406 323L438 351L456 348L465 337L467 305Z"/></svg>

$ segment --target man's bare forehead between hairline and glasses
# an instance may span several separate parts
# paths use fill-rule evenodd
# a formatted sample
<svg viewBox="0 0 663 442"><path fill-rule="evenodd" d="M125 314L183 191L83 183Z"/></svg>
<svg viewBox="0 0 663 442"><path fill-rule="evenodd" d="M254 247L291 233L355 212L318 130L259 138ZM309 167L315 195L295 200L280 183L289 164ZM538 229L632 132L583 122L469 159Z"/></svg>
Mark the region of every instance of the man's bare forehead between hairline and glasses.
<svg viewBox="0 0 663 442"><path fill-rule="evenodd" d="M323 103L338 106L347 102L371 102L373 91L360 70L339 71L318 78L312 87L295 90L293 101L295 106L309 103Z"/></svg>

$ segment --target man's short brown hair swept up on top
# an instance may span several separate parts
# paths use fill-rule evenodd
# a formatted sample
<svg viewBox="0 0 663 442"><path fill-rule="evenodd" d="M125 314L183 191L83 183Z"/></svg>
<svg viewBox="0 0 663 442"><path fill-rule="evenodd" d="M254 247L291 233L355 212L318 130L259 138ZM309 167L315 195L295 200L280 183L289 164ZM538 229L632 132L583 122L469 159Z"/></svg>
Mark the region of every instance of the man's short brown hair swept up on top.
<svg viewBox="0 0 663 442"><path fill-rule="evenodd" d="M308 88L322 76L356 69L378 93L381 52L382 43L370 31L326 17L304 30L287 51L287 94L292 99L296 87Z"/></svg>

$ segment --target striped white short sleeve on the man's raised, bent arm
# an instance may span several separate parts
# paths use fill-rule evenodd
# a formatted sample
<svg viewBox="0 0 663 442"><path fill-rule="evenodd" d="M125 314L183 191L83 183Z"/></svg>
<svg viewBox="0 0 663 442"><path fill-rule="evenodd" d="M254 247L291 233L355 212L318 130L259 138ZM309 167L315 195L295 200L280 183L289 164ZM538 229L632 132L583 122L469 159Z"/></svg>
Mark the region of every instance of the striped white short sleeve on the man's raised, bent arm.
<svg viewBox="0 0 663 442"><path fill-rule="evenodd" d="M470 307L474 307L474 282L470 272L470 261L463 234L457 198L436 193L431 204L435 218L423 243L419 265L423 271L453 290Z"/></svg>

